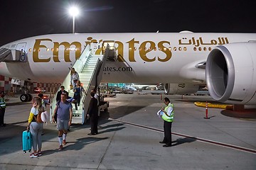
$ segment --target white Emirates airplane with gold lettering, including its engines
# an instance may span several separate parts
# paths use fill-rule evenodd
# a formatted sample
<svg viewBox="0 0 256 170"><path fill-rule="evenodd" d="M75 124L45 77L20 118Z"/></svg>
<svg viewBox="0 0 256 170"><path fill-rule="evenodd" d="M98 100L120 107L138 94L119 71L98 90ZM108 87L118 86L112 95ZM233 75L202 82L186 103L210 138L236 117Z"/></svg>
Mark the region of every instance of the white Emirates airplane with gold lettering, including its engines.
<svg viewBox="0 0 256 170"><path fill-rule="evenodd" d="M0 47L0 74L14 81L61 83L83 49L114 45L102 82L164 83L169 94L207 85L216 101L256 105L255 33L73 33L38 35Z"/></svg>

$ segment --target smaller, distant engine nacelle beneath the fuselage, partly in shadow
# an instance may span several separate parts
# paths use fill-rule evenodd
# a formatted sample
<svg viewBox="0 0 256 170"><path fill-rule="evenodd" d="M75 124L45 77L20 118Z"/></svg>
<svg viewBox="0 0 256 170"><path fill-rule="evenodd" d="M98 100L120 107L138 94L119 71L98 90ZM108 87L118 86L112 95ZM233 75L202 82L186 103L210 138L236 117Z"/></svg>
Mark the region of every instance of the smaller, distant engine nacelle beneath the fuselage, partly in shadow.
<svg viewBox="0 0 256 170"><path fill-rule="evenodd" d="M194 94L198 89L196 84L164 84L166 94Z"/></svg>

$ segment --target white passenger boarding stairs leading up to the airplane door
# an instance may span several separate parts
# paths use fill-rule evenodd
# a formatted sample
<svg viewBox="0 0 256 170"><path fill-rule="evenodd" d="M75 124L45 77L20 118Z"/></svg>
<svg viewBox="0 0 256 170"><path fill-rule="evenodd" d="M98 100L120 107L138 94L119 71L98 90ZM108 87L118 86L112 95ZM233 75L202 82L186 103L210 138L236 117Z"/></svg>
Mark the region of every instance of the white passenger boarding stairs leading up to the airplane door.
<svg viewBox="0 0 256 170"><path fill-rule="evenodd" d="M114 50L114 48L112 49ZM90 45L87 45L85 47L85 50L83 50L82 54L80 55L80 58L76 60L75 64L73 65L73 68L75 68L75 71L78 72L81 84L85 89L85 93L82 93L80 106L78 106L78 111L75 111L75 104L72 104L73 106L72 123L75 123L75 124L85 123L87 110L88 110L90 99L91 99L90 91L94 88L97 88L97 86L100 84L100 81L102 79L103 69L105 67L105 62L107 61L109 53L112 54L112 52L110 52L110 45L108 44L107 44L104 55L95 55L93 54L92 51L93 49L91 49ZM63 81L62 85L65 86L65 90L68 91L69 93L68 96L73 97L74 92L72 89L70 89L70 72L68 72L68 75L65 77L65 80ZM58 91L60 91L60 88L58 89ZM51 115L53 115L53 111L56 106L57 93L51 100L51 105L50 105ZM51 117L52 116L50 116L50 121L51 121Z"/></svg>

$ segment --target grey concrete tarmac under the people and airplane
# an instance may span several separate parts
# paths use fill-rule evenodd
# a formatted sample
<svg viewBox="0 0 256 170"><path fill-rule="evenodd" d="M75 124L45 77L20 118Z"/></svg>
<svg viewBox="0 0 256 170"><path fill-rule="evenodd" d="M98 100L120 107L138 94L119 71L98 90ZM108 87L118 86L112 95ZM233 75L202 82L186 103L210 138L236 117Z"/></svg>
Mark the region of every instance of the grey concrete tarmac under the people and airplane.
<svg viewBox="0 0 256 170"><path fill-rule="evenodd" d="M162 95L162 98L166 95ZM101 113L99 134L89 136L89 123L72 125L68 144L58 151L55 123L44 125L43 155L23 153L32 103L18 97L7 102L6 127L0 127L0 169L256 169L256 119L234 118L223 110L197 107L210 96L167 96L174 103L172 147L162 147L163 120L156 115L161 95L117 94ZM48 107L49 108L49 107Z"/></svg>

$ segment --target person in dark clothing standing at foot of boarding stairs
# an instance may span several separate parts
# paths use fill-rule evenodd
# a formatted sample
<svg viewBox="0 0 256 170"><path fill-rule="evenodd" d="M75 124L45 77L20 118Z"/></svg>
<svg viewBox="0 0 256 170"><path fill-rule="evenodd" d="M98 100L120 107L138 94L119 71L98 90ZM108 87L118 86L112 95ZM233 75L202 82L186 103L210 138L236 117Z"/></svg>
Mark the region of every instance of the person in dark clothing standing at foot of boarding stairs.
<svg viewBox="0 0 256 170"><path fill-rule="evenodd" d="M97 99L94 97L95 93L91 92L91 100L89 105L89 111L87 117L90 118L90 130L91 132L88 135L97 135L97 123L98 123L98 107L97 107Z"/></svg>

